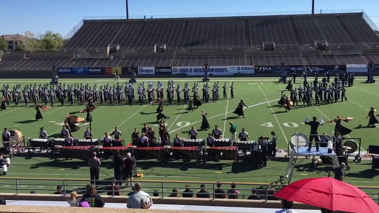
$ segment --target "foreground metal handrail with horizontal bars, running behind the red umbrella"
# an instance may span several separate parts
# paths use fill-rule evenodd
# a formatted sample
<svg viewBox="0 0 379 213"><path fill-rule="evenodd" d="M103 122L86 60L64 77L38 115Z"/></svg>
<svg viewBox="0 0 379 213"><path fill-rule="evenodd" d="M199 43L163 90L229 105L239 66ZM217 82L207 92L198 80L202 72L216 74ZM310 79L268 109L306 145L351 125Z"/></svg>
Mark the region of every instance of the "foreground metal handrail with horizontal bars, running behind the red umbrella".
<svg viewBox="0 0 379 213"><path fill-rule="evenodd" d="M7 181L6 183L3 183L3 181ZM25 182L27 181L28 183L22 183L22 182ZM0 185L2 186L14 186L14 188L4 188L4 187L1 187L0 190L14 190L16 192L16 194L20 194L20 191L25 191L25 190L38 190L38 191L56 191L55 188L53 189L42 189L44 188L45 186L57 186L57 185L61 185L62 186L62 191L64 193L64 195L66 196L67 194L69 194L71 191L77 191L77 192L85 192L86 189L85 189L85 186L91 181L91 180L75 180L75 179L51 179L51 180L47 180L47 179L44 179L44 183L30 183L30 182L33 182L33 181L41 181L40 179L28 179L28 178L1 178L0 179ZM54 183L46 183L46 182L49 182L49 181L52 181ZM110 183L109 185L99 185L97 184L97 192L99 193L103 193L103 192L111 192L111 194L114 196L114 194L117 192L114 190L114 187L113 186L116 186L114 185L116 182L122 182L122 184L124 185L124 183L130 183L130 181L127 181L127 180L92 180L94 182L102 182L102 183ZM70 182L74 182L74 184L71 184ZM76 182L76 184L75 184ZM77 182L80 182L79 184L77 184ZM81 184L82 182L84 182L83 184ZM252 194L246 194L246 193L238 193L238 194L230 194L230 193L226 193L226 194L218 194L218 193L215 193L215 190L217 189L217 184L221 184L222 186L225 186L225 185L230 185L232 184L231 182L220 182L220 183L217 183L217 182L191 182L191 181L153 181L153 180L133 180L133 183L136 183L136 182L139 182L142 184L143 186L143 189L146 189L144 190L146 193L149 193L150 195L152 195L152 193L161 193L162 196L158 196L158 197L168 197L168 196L165 196L165 194L172 194L172 189L176 188L176 189L185 189L186 187L183 187L183 186L170 186L168 184L183 184L183 185L186 185L186 184L197 184L197 185L200 185L200 184L204 184L204 185L211 185L211 187L206 187L204 188L204 190L211 190L211 192L209 193L197 193L197 191L194 191L192 194L208 194L210 196L211 199L215 199L215 196L216 195L237 195L237 196L251 196ZM150 185L146 185L148 183L158 183L158 185L156 186L150 186ZM233 183L236 185L236 188L232 189L232 188L220 188L224 191L227 191L227 190L243 190L243 191L251 191L252 190L252 187L254 187L255 191L257 192L260 192L258 193L257 195L262 197L263 199L262 200L269 200L269 197L272 197L273 195L272 192L276 192L276 191L279 191L281 188L287 186L286 184L265 184L265 183ZM27 186L30 186L30 187L27 187ZM71 187L75 187L76 189L72 189L72 190L69 190L68 189L68 186L71 186ZM248 188L246 188L246 186L248 186ZM26 188L25 188L26 187ZM79 188L79 187L82 187L82 188ZM103 190L103 187L111 187L112 190ZM122 187L125 187L126 189L128 188L131 188L132 186L122 186ZM152 190L150 190L150 188L152 188ZM199 187L190 187L191 189L194 189L194 190L200 190ZM374 201L377 202L377 204L379 205L379 187L368 187L368 186L359 186L358 188L360 188L362 191L363 190L370 190L370 191L374 191L376 190L377 192L365 192L366 194L368 194L369 196L373 196L371 197ZM105 188L106 189L106 188ZM157 189L157 191L154 191L154 189ZM158 191L159 190L159 191ZM165 192L166 190L166 192ZM131 190L130 190L131 191ZM125 189L120 189L119 192L120 193L129 193L130 191L126 191ZM271 192L271 194L270 194ZM181 191L181 192L177 192L177 194L183 194L184 191ZM378 196L378 197L375 197L375 196Z"/></svg>

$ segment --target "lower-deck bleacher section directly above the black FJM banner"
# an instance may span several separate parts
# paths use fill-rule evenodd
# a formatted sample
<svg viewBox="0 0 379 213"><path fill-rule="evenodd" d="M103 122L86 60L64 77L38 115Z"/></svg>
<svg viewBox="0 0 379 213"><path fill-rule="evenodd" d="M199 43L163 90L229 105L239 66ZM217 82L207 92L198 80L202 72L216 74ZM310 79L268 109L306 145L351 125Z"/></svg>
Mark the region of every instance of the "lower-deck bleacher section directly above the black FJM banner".
<svg viewBox="0 0 379 213"><path fill-rule="evenodd" d="M287 65L305 64L302 55L252 55L251 62L254 65L277 65L282 62Z"/></svg>

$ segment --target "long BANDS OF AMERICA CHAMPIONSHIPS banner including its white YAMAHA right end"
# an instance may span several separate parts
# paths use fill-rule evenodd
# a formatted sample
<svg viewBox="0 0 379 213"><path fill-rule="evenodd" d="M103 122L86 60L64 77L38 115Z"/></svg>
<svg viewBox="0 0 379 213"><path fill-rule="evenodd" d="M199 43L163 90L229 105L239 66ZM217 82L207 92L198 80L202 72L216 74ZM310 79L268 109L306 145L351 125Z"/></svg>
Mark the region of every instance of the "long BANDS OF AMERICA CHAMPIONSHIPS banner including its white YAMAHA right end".
<svg viewBox="0 0 379 213"><path fill-rule="evenodd" d="M235 73L254 73L254 66L208 67L208 74L212 75L232 75ZM204 67L172 67L172 74L204 75Z"/></svg>

